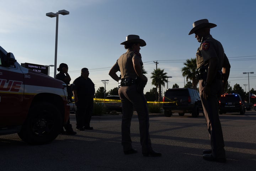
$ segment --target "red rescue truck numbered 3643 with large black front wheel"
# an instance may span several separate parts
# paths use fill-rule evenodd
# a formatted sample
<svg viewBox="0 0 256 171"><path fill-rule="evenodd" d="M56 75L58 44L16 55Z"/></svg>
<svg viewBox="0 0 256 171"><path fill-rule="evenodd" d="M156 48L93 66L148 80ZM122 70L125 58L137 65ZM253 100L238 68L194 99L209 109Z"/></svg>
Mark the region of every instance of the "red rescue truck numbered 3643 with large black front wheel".
<svg viewBox="0 0 256 171"><path fill-rule="evenodd" d="M66 85L23 68L0 46L0 135L18 133L29 144L54 140L68 121Z"/></svg>

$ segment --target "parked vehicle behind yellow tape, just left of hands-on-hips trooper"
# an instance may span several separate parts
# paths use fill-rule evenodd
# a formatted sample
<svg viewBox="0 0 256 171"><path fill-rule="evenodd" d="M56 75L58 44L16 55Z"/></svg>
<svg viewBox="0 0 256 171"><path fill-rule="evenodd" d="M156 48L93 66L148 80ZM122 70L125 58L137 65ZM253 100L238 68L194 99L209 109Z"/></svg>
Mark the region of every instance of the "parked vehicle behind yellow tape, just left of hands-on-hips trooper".
<svg viewBox="0 0 256 171"><path fill-rule="evenodd" d="M106 99L113 101L105 101L105 106L107 108L107 113L112 111L117 111L122 113L122 103L119 96L107 96ZM117 101L118 100L118 101Z"/></svg>

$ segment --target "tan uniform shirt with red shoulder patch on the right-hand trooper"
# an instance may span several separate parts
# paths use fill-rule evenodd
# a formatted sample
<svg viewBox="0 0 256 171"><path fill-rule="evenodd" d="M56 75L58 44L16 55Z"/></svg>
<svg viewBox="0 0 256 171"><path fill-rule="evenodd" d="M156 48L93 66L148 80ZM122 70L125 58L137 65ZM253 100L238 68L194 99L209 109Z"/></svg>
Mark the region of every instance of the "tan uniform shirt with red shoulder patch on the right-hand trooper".
<svg viewBox="0 0 256 171"><path fill-rule="evenodd" d="M222 44L219 41L215 40L210 34L204 37L203 42L197 50L196 57L197 68L200 68L203 65L207 66L207 61L210 58L215 58L216 60L218 60L217 70L222 70L223 60L228 59L226 57L226 54L224 53Z"/></svg>

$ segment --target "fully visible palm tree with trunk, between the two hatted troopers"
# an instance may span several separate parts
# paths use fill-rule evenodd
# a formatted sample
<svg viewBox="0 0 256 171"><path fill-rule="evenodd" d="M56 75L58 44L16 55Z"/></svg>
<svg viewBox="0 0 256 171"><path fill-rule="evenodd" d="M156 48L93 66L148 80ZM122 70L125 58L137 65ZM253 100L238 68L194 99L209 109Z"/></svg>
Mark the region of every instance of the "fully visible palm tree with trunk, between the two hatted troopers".
<svg viewBox="0 0 256 171"><path fill-rule="evenodd" d="M167 82L167 73L164 73L164 69L154 69L154 71L151 73L152 76L152 85L156 86L156 89L158 88L158 101L162 101L162 85L165 86L165 82Z"/></svg>

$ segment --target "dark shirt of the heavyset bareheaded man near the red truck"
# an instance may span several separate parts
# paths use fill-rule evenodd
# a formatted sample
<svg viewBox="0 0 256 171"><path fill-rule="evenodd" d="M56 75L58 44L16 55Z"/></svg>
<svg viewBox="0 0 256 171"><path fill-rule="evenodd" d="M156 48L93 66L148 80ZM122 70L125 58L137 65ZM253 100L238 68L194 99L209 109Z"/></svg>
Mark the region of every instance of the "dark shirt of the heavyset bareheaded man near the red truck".
<svg viewBox="0 0 256 171"><path fill-rule="evenodd" d="M80 76L74 80L73 84L72 90L77 91L78 100L87 100L88 97L94 97L95 87L90 78L85 79Z"/></svg>

